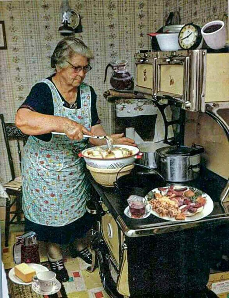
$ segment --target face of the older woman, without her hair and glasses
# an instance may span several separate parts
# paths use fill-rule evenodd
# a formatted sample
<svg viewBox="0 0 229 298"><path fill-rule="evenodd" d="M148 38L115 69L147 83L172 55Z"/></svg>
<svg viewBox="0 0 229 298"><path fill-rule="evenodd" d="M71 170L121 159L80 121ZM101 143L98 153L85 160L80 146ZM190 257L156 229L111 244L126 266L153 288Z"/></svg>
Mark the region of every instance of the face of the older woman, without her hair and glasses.
<svg viewBox="0 0 229 298"><path fill-rule="evenodd" d="M57 70L61 78L66 82L67 85L78 87L84 80L86 73L83 69L77 71L74 67L87 66L88 59L82 55L74 54L69 60L67 67ZM73 66L72 66L72 65Z"/></svg>

